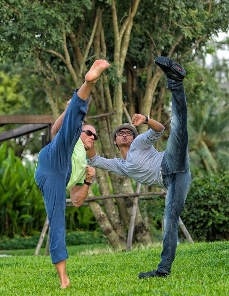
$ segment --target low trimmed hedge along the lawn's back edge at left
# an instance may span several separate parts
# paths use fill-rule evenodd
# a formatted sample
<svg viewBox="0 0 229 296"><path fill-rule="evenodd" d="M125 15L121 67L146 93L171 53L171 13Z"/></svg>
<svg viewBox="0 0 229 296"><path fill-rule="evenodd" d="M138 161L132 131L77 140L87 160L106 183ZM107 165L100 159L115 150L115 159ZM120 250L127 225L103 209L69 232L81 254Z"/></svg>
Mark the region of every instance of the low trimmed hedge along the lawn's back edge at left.
<svg viewBox="0 0 229 296"><path fill-rule="evenodd" d="M20 237L19 235L13 238L0 236L0 250L16 250L16 249L34 249L37 246L39 235ZM44 238L42 247L45 247L47 235ZM69 231L66 232L66 245L80 244L101 244L105 242L105 237L98 231Z"/></svg>

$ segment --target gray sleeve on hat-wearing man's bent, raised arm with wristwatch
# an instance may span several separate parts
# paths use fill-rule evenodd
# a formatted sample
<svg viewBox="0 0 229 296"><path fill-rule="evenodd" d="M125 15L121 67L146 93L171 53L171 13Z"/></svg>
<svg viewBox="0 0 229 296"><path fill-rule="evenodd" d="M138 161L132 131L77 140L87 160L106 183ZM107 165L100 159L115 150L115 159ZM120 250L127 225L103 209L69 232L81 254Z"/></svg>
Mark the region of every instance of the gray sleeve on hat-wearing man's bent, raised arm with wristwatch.
<svg viewBox="0 0 229 296"><path fill-rule="evenodd" d="M165 128L164 128L164 130L165 130ZM161 134L163 133L163 131L156 132L156 131L154 131L154 130L152 130L150 128L147 132L138 135L133 140L133 143L131 145L134 148L138 148L139 149L139 147L140 147L140 149L147 149L150 146L152 146L154 142L156 142L156 141L158 141L160 139Z"/></svg>

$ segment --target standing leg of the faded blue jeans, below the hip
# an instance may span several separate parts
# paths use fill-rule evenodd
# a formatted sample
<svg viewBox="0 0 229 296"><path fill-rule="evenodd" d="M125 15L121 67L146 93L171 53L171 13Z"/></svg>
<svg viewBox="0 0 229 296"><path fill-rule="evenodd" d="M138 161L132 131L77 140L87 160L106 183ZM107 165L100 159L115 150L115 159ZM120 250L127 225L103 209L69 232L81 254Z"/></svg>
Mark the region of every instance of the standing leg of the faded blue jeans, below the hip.
<svg viewBox="0 0 229 296"><path fill-rule="evenodd" d="M178 222L191 184L190 171L163 175L168 185L164 219L163 250L158 270L170 274L177 247Z"/></svg>

